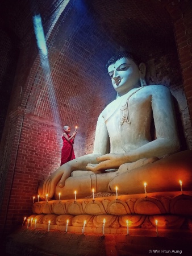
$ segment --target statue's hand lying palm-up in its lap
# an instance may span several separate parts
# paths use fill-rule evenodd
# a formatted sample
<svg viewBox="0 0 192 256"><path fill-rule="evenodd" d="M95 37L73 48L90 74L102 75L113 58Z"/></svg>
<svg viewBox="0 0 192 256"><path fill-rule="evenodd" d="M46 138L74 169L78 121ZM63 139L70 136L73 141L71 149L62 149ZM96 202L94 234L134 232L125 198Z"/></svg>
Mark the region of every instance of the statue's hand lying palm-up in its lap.
<svg viewBox="0 0 192 256"><path fill-rule="evenodd" d="M127 163L127 156L124 154L106 154L97 157L98 164L87 164L87 169L93 171L95 174L102 173L104 170L111 168L119 168L121 164Z"/></svg>

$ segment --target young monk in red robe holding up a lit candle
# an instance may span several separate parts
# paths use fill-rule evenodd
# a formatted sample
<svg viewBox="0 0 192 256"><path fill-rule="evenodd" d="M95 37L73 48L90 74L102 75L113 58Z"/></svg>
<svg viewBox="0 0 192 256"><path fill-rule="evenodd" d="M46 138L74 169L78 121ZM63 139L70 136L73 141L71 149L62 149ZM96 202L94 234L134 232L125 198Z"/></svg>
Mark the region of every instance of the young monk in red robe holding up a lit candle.
<svg viewBox="0 0 192 256"><path fill-rule="evenodd" d="M64 126L64 133L62 134L63 146L61 150L61 166L62 164L67 163L70 160L73 160L76 158L76 156L74 155L73 143L74 143L74 138L76 137L77 131L74 131L72 136L70 136L69 133L70 133L70 127Z"/></svg>

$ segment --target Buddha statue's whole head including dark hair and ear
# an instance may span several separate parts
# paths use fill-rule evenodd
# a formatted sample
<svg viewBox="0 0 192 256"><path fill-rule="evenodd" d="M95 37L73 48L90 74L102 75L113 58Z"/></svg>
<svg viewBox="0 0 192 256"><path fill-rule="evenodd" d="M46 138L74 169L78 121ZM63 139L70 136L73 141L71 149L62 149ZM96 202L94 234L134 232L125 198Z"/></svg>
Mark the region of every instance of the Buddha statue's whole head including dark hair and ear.
<svg viewBox="0 0 192 256"><path fill-rule="evenodd" d="M119 95L127 93L132 88L146 85L145 64L130 52L119 52L114 55L107 62L106 68Z"/></svg>

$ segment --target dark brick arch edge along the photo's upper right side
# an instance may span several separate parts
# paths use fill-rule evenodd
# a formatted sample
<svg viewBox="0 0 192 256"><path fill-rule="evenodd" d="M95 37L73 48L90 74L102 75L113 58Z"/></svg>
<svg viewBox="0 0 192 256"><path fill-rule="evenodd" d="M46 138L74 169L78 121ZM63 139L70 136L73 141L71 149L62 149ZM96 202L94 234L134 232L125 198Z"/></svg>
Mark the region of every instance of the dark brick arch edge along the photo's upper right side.
<svg viewBox="0 0 192 256"><path fill-rule="evenodd" d="M177 44L178 57L182 70L183 86L187 99L186 108L189 114L185 113L183 122L185 123L185 137L192 147L192 2L191 1L162 1L166 11L170 14L174 24L174 33Z"/></svg>

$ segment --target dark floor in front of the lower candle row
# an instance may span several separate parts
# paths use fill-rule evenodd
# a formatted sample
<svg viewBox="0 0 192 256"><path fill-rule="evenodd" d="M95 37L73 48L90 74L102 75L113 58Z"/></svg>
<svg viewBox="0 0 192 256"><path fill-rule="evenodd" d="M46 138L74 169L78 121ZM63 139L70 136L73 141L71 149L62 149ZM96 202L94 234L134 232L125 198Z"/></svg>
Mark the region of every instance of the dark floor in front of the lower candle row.
<svg viewBox="0 0 192 256"><path fill-rule="evenodd" d="M152 235L152 236L151 236ZM19 228L7 237L6 254L15 256L147 256L192 255L192 233L156 234L130 230L130 235L65 233ZM2 255L2 254L1 254Z"/></svg>

